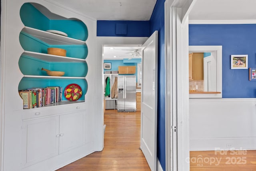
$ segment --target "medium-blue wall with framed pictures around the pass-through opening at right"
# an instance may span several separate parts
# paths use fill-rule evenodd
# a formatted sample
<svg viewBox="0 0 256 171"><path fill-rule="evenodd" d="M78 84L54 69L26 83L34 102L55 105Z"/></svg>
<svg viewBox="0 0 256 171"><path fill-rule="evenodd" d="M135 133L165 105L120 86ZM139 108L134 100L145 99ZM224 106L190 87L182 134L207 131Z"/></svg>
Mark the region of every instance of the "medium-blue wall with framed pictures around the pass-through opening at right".
<svg viewBox="0 0 256 171"><path fill-rule="evenodd" d="M256 68L256 24L190 24L189 45L222 45L222 97L256 97L249 70L231 70L230 55L248 54L248 68Z"/></svg>

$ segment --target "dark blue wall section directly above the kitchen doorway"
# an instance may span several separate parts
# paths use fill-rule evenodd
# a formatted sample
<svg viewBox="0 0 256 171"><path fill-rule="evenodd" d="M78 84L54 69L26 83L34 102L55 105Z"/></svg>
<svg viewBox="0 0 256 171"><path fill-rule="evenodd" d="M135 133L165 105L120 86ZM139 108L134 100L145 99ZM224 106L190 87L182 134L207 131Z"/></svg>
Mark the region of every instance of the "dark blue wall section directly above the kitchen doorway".
<svg viewBox="0 0 256 171"><path fill-rule="evenodd" d="M127 34L117 35L116 24L127 24ZM97 21L97 36L149 37L149 21Z"/></svg>

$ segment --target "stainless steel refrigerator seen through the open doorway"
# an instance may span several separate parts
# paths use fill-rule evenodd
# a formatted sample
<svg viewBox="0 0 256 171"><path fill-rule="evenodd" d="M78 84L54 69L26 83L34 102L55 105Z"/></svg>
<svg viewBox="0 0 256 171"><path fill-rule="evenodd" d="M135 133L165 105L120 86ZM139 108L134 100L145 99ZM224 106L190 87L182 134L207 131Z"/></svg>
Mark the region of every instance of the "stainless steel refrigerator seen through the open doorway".
<svg viewBox="0 0 256 171"><path fill-rule="evenodd" d="M118 76L117 111L136 111L136 76Z"/></svg>

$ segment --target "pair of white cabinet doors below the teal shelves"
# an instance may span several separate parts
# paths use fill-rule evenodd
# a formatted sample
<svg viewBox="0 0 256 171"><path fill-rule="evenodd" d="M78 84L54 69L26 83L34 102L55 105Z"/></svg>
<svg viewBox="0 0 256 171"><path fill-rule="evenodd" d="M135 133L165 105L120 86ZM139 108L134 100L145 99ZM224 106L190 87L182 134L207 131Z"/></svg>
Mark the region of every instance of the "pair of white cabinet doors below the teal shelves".
<svg viewBox="0 0 256 171"><path fill-rule="evenodd" d="M85 143L86 112L78 111L22 122L22 165L40 161Z"/></svg>

